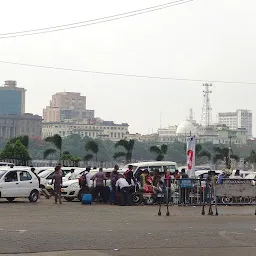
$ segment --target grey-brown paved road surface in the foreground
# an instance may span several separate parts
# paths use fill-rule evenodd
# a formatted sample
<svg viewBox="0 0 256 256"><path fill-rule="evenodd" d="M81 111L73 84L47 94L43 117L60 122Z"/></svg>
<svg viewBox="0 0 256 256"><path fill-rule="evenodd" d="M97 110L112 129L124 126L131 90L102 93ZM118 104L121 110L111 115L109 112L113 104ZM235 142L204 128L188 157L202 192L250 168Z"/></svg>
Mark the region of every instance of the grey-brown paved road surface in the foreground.
<svg viewBox="0 0 256 256"><path fill-rule="evenodd" d="M201 216L200 207L171 207L170 217L157 210L0 200L0 254L256 255L254 207L221 207L219 216Z"/></svg>

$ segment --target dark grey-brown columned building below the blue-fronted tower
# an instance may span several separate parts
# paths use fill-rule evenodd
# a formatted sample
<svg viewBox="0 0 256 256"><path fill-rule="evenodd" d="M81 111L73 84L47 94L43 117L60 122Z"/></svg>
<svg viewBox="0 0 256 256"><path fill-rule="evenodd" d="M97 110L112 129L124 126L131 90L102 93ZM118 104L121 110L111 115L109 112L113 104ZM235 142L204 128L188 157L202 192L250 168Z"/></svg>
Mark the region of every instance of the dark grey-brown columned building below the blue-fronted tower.
<svg viewBox="0 0 256 256"><path fill-rule="evenodd" d="M42 117L33 114L0 115L0 138L11 139L22 135L42 136Z"/></svg>

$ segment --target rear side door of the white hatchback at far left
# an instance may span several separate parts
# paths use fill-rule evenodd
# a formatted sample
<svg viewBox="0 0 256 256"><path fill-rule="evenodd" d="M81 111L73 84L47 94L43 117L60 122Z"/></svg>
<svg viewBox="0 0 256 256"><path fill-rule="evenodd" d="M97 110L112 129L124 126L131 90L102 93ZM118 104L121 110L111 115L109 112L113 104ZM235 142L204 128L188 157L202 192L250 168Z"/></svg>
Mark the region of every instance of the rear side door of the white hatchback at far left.
<svg viewBox="0 0 256 256"><path fill-rule="evenodd" d="M19 171L19 192L20 196L28 197L31 191L37 186L38 180L32 178L28 171Z"/></svg>

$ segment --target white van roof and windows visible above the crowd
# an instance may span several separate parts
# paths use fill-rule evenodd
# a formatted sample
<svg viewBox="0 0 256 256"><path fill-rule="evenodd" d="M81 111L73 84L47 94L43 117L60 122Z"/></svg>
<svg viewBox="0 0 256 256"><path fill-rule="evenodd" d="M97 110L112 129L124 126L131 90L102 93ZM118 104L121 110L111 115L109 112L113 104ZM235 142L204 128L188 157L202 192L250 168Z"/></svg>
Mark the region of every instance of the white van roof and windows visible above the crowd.
<svg viewBox="0 0 256 256"><path fill-rule="evenodd" d="M149 172L159 171L160 173L165 172L166 170L169 170L171 172L174 172L178 169L178 165L175 162L169 162L169 161L155 161L155 162L140 162L140 163L132 163L127 164L123 171L128 170L128 166L133 166L133 173L136 175L140 170L147 169Z"/></svg>

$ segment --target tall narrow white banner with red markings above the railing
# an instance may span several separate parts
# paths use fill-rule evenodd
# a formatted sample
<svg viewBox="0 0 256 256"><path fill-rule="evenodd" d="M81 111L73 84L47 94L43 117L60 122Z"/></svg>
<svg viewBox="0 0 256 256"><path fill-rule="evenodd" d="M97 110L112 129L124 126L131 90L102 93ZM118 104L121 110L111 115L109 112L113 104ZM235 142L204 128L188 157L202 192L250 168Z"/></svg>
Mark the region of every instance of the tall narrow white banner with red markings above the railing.
<svg viewBox="0 0 256 256"><path fill-rule="evenodd" d="M187 168L188 176L195 177L196 162L196 137L191 136L187 139Z"/></svg>

